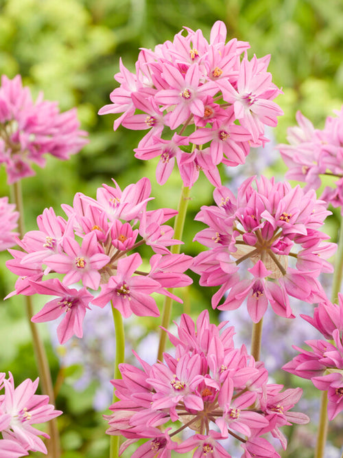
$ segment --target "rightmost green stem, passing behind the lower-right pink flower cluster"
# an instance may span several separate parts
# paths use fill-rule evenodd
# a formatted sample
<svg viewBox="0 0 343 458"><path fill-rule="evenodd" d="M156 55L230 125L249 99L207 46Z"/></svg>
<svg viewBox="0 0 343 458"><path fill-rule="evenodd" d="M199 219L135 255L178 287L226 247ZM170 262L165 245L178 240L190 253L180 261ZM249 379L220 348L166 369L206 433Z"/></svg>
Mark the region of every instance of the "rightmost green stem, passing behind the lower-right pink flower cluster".
<svg viewBox="0 0 343 458"><path fill-rule="evenodd" d="M343 269L343 218L341 218L340 238L338 240L338 249L335 255L335 271L333 272L333 282L331 291L331 302L338 301L338 293L342 284L342 269ZM325 444L327 442L327 430L329 419L327 417L327 391L322 392L322 400L320 402L320 416L318 424L318 435L315 458L323 458Z"/></svg>

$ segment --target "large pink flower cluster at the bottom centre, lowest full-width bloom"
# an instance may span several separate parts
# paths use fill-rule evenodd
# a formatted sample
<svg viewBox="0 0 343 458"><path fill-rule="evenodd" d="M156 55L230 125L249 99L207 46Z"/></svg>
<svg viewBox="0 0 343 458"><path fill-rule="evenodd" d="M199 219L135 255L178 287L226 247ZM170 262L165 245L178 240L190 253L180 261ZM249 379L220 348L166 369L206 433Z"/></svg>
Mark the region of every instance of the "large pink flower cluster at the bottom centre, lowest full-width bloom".
<svg viewBox="0 0 343 458"><path fill-rule="evenodd" d="M279 457L267 439L267 433L287 440L279 426L309 421L303 413L289 411L298 402L302 390L268 384L268 371L255 362L246 348L233 345L234 328L209 323L204 310L196 323L183 314L178 337L169 333L175 345L175 356L164 354L165 363L142 369L120 365L122 380L112 380L119 398L105 415L110 435L123 435L128 440L123 453L141 438L149 439L132 454L133 458L168 458L171 450L193 457L230 458L220 444L228 436L235 437L244 448L242 457ZM222 332L220 332L222 330ZM161 431L162 425L168 426ZM174 437L188 428L182 442Z"/></svg>

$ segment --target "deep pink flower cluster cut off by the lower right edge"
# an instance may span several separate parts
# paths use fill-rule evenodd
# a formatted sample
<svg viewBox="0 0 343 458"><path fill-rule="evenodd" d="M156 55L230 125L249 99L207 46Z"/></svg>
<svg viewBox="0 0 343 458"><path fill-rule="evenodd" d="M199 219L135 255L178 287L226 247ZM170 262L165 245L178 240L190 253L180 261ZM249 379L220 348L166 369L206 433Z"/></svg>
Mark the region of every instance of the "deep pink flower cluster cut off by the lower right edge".
<svg viewBox="0 0 343 458"><path fill-rule="evenodd" d="M338 294L339 305L321 302L314 309L314 317L302 315L325 339L305 341L311 350L294 346L300 354L285 364L283 369L296 376L310 379L314 386L327 391L327 412L333 420L343 411L343 295Z"/></svg>

